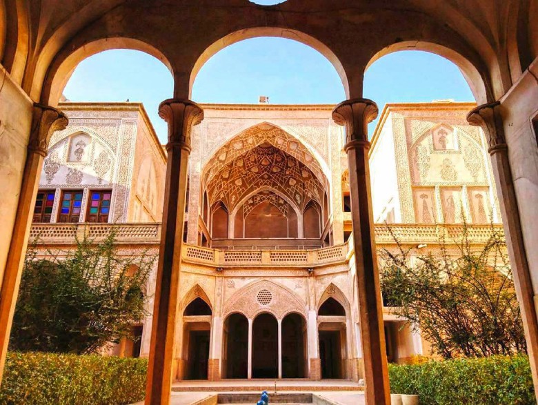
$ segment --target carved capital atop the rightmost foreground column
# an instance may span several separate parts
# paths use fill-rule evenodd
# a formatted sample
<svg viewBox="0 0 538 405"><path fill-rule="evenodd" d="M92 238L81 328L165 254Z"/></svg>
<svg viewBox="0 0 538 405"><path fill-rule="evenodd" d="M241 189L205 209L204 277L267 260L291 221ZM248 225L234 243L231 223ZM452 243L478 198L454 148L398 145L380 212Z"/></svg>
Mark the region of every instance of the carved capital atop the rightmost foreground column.
<svg viewBox="0 0 538 405"><path fill-rule="evenodd" d="M504 137L504 127L499 108L501 103L482 104L470 110L467 121L472 126L479 126L484 131L488 141L488 152L493 155L499 150L506 150L506 139Z"/></svg>

